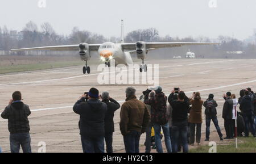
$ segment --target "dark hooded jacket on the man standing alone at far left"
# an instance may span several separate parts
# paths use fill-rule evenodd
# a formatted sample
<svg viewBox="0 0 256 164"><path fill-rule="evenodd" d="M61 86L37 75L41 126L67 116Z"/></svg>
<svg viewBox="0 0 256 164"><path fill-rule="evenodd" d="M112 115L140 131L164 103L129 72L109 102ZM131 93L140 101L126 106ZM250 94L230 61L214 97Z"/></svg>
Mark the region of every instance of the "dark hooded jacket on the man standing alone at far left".
<svg viewBox="0 0 256 164"><path fill-rule="evenodd" d="M19 101L7 106L1 116L3 119L8 119L8 129L11 134L28 133L30 131L28 116L30 114L28 105Z"/></svg>

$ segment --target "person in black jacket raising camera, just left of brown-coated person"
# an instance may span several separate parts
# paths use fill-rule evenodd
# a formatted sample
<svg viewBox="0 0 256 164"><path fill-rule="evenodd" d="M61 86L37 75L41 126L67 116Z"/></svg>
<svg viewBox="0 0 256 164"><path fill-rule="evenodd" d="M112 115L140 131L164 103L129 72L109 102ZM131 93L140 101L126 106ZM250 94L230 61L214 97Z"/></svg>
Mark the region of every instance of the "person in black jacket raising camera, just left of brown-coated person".
<svg viewBox="0 0 256 164"><path fill-rule="evenodd" d="M180 91L178 94L178 99L174 100L174 90L168 97L168 102L172 107L172 136L173 148L172 152L177 152L177 145L179 138L181 138L181 144L183 147L183 153L188 152L188 142L187 142L187 122L188 122L188 111L189 102L185 100L185 93Z"/></svg>

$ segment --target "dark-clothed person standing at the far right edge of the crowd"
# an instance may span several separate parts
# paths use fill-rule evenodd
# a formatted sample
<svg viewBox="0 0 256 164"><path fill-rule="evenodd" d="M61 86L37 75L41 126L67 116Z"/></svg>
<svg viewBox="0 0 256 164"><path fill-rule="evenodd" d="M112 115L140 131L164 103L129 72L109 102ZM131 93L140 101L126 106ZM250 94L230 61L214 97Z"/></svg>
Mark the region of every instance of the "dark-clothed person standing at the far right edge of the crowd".
<svg viewBox="0 0 256 164"><path fill-rule="evenodd" d="M245 119L245 137L249 136L249 124L251 127L251 133L255 135L255 124L254 124L254 111L253 111L253 95L250 95L248 90L245 91L240 104L243 117Z"/></svg>

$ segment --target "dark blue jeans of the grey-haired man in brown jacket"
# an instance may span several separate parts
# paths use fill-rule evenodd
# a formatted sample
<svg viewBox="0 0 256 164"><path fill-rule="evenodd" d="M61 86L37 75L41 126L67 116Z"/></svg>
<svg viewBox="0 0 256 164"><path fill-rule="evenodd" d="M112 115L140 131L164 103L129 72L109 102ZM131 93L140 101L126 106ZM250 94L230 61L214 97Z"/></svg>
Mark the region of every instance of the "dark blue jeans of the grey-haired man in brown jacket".
<svg viewBox="0 0 256 164"><path fill-rule="evenodd" d="M126 153L139 153L139 138L141 138L141 132L137 131L130 131L123 136Z"/></svg>

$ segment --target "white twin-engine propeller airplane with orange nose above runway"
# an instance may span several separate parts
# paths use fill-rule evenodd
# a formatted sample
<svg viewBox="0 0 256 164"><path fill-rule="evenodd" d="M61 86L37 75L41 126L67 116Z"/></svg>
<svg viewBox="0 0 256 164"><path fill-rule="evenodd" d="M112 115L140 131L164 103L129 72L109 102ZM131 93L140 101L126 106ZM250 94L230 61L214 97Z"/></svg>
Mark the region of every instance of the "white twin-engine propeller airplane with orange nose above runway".
<svg viewBox="0 0 256 164"><path fill-rule="evenodd" d="M50 50L50 51L79 51L80 58L85 61L85 66L82 68L84 74L90 74L90 67L88 61L90 60L90 52L98 51L102 62L110 67L110 61L115 60L115 66L118 64L133 64L131 53L136 53L137 58L142 60L139 71L147 72L147 65L144 64L148 51L158 48L172 48L181 47L182 45L209 45L219 43L188 43L188 42L145 42L137 41L137 43L124 43L123 41L123 19L121 20L121 43L106 42L102 44L88 44L80 43L75 45L57 45L47 47L34 47L34 48L19 48L11 49L11 52L18 51L34 51L34 50Z"/></svg>

